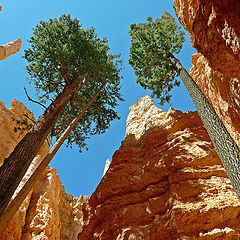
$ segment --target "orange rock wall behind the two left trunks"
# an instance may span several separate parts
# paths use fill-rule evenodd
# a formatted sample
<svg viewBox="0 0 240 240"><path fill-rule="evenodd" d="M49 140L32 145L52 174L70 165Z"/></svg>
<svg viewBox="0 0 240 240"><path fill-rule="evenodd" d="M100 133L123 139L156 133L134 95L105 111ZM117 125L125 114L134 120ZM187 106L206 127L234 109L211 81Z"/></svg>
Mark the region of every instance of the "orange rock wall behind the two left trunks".
<svg viewBox="0 0 240 240"><path fill-rule="evenodd" d="M28 117L26 117L26 115ZM7 109L0 102L0 165L33 124L33 113L13 100ZM16 193L49 151L46 142L34 158ZM82 226L82 204L85 197L73 197L65 192L54 168L47 168L32 192L0 235L2 240L68 240L77 239Z"/></svg>

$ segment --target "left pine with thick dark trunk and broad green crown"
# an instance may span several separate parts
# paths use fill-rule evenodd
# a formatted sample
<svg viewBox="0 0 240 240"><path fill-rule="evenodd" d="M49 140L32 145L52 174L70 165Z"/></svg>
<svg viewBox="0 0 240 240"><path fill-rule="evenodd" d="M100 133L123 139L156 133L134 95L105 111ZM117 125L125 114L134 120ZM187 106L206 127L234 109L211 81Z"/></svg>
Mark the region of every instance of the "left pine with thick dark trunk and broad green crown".
<svg viewBox="0 0 240 240"><path fill-rule="evenodd" d="M50 135L60 138L99 89L101 92L67 136L68 144L81 150L92 134L103 133L118 115L114 108L122 100L120 55L109 53L106 38L94 28L84 30L70 15L41 21L29 40L24 58L30 82L41 103L51 104L19 142L0 168L0 216L40 147Z"/></svg>

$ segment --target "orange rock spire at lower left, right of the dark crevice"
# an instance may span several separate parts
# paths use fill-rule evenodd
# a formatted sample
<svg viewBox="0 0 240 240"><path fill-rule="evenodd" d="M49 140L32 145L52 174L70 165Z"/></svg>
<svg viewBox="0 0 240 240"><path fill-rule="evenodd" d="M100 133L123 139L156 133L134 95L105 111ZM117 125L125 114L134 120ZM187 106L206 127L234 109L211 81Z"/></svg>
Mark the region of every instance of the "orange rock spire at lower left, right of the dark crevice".
<svg viewBox="0 0 240 240"><path fill-rule="evenodd" d="M67 194L56 170L48 168L32 192L21 240L76 240L83 202Z"/></svg>

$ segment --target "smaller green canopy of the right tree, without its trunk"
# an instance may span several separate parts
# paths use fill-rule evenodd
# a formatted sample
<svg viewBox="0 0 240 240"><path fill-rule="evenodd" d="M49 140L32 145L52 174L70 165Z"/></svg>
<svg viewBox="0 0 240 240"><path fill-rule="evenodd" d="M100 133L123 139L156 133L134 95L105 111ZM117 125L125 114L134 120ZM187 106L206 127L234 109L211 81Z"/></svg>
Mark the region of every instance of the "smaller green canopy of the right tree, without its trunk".
<svg viewBox="0 0 240 240"><path fill-rule="evenodd" d="M170 91L179 86L178 72L172 66L169 54L178 54L184 42L184 32L170 13L155 21L151 17L146 23L131 24L129 64L137 76L137 83L152 91L152 97L160 104L169 102Z"/></svg>

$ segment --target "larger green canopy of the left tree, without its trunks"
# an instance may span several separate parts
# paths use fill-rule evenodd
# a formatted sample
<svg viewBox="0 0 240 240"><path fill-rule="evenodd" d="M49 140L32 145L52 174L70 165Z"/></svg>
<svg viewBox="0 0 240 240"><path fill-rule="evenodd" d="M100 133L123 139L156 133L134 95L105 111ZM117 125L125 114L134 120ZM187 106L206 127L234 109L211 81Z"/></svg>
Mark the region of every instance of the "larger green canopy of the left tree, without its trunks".
<svg viewBox="0 0 240 240"><path fill-rule="evenodd" d="M52 137L58 138L94 94L107 82L91 108L68 137L68 145L76 143L80 150L91 134L103 133L118 115L114 108L120 94L120 54L109 53L106 38L100 39L95 29L84 30L79 20L70 15L41 21L33 29L25 50L26 70L34 83L39 101L53 100L64 88L81 78L79 89L64 109Z"/></svg>

